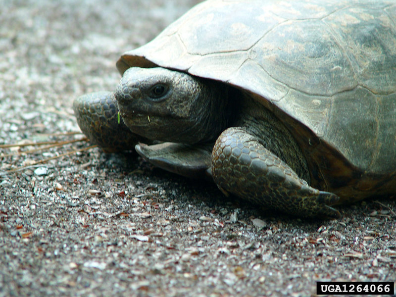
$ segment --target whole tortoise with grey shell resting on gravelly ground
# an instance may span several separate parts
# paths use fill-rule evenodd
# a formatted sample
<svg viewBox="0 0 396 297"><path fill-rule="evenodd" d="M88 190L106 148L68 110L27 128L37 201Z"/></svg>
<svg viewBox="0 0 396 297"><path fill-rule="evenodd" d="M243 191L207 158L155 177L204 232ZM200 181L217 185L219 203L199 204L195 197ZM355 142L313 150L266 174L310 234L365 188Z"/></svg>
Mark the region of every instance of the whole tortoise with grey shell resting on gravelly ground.
<svg viewBox="0 0 396 297"><path fill-rule="evenodd" d="M104 151L338 217L396 192L395 20L394 0L207 0L122 54L115 92L74 111Z"/></svg>

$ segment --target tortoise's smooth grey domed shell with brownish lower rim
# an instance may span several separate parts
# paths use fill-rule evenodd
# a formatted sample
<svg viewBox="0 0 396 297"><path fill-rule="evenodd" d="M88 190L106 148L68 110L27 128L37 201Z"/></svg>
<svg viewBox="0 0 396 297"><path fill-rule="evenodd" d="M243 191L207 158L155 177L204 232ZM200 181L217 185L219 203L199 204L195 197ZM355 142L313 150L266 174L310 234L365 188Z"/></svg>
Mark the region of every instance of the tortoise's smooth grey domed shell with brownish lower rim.
<svg viewBox="0 0 396 297"><path fill-rule="evenodd" d="M296 135L312 185L361 198L396 190L394 0L208 0L124 53L236 86Z"/></svg>

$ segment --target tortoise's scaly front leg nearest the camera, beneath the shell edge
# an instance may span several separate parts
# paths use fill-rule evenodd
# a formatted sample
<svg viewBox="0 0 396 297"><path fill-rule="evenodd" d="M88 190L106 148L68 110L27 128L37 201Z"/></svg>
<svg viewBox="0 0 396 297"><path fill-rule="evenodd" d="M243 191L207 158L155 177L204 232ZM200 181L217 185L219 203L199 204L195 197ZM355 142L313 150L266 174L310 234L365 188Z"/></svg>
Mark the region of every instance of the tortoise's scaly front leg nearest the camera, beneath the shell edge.
<svg viewBox="0 0 396 297"><path fill-rule="evenodd" d="M212 151L212 176L225 193L306 217L339 217L339 198L310 187L288 164L241 127L228 128Z"/></svg>

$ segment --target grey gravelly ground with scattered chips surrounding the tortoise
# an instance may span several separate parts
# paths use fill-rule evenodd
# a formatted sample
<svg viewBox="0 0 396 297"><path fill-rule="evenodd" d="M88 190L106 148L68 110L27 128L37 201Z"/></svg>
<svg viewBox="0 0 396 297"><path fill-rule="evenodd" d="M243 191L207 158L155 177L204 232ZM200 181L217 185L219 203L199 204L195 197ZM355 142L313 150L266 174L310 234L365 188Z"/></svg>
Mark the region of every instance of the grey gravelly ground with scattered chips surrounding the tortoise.
<svg viewBox="0 0 396 297"><path fill-rule="evenodd" d="M0 11L0 297L311 296L317 281L396 280L395 198L301 220L225 198L135 154L78 141L73 98L194 0L8 0ZM56 157L43 164L37 161Z"/></svg>

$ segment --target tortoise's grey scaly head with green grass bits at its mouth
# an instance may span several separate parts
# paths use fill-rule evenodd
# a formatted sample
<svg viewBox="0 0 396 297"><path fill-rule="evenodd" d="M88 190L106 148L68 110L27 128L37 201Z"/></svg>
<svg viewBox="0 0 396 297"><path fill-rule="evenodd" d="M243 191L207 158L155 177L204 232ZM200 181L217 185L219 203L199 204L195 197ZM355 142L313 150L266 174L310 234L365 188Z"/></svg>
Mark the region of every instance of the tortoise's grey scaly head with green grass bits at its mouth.
<svg viewBox="0 0 396 297"><path fill-rule="evenodd" d="M126 126L152 140L193 144L224 129L224 87L161 67L132 67L115 91Z"/></svg>

